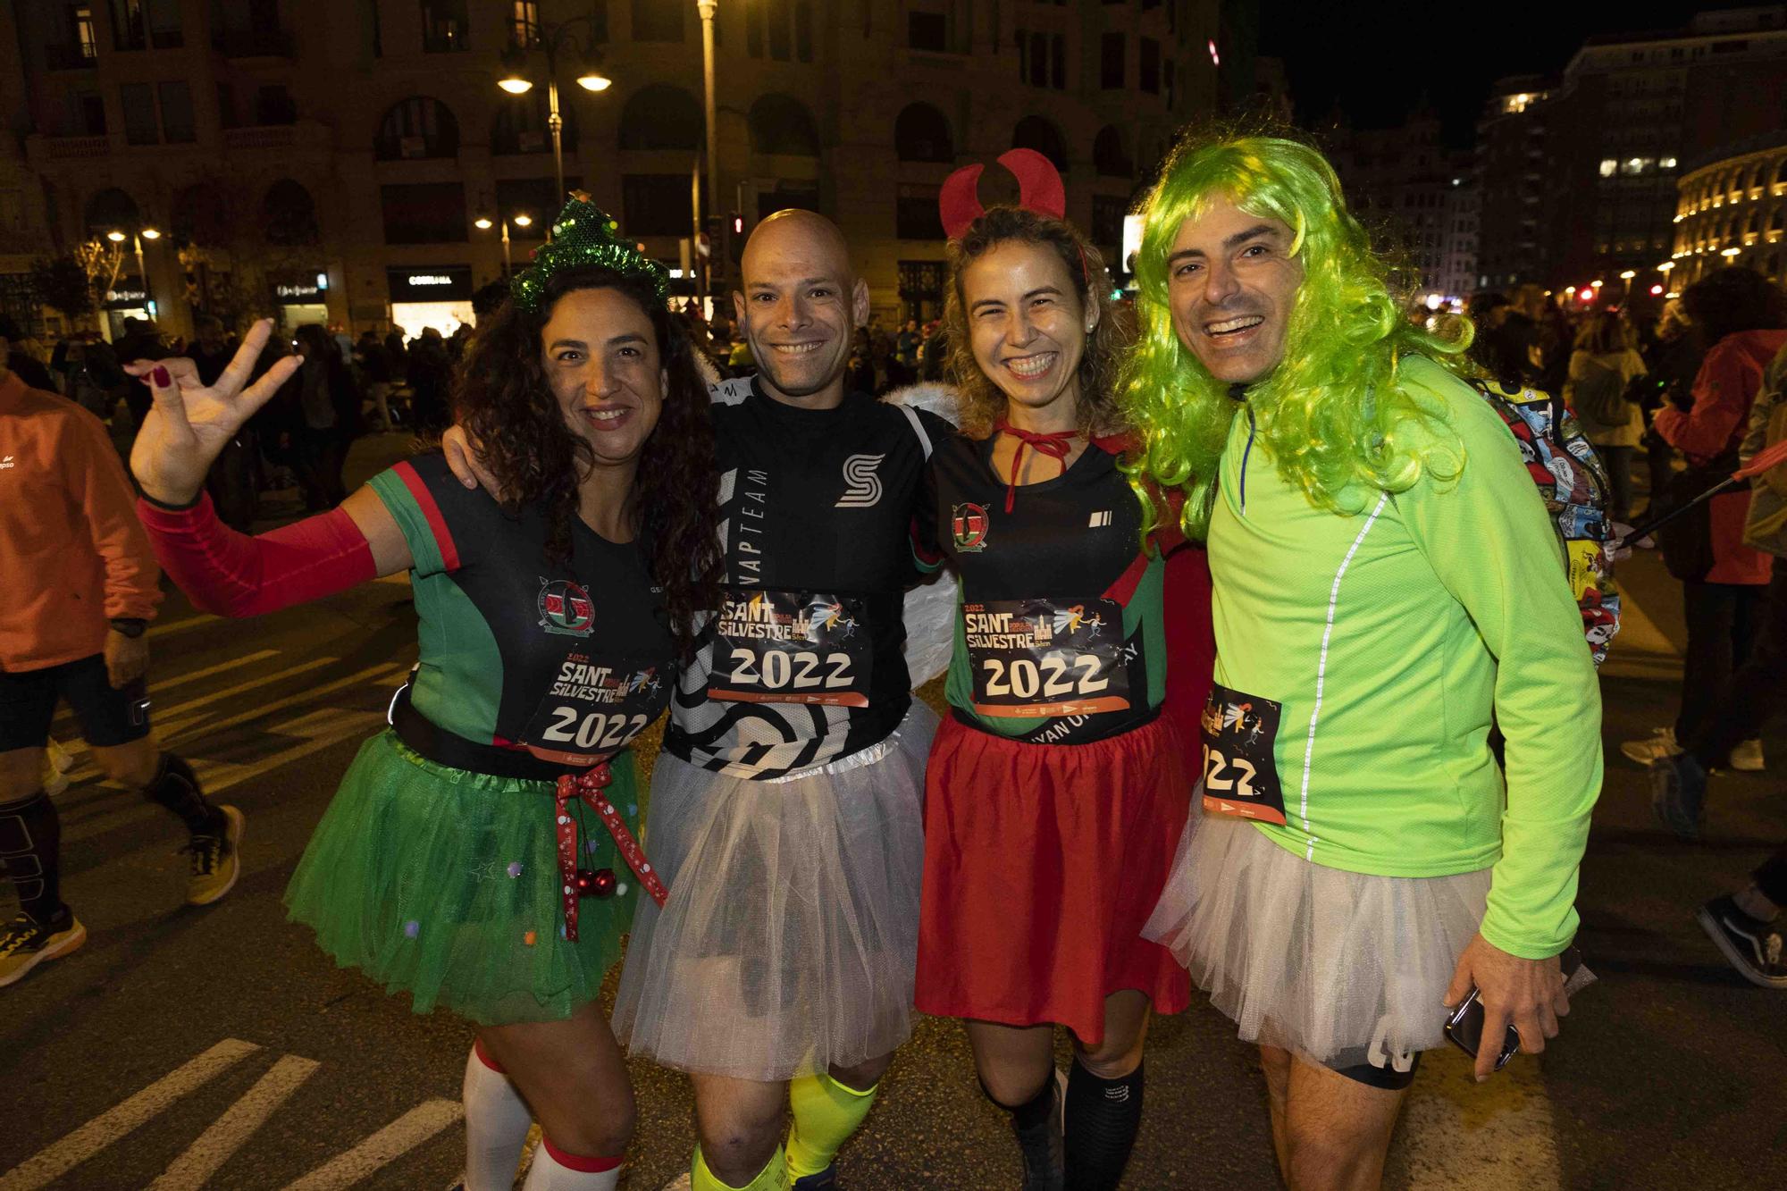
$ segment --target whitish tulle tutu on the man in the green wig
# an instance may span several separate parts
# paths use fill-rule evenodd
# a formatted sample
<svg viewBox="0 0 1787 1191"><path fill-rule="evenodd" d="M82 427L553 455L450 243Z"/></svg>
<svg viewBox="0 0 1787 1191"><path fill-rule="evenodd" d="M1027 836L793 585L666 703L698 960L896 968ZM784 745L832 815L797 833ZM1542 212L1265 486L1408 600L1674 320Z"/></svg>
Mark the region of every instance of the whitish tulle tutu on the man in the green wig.
<svg viewBox="0 0 1787 1191"><path fill-rule="evenodd" d="M1489 878L1330 869L1244 819L1194 812L1142 933L1172 948L1244 1041L1385 1066L1446 1044L1446 987Z"/></svg>

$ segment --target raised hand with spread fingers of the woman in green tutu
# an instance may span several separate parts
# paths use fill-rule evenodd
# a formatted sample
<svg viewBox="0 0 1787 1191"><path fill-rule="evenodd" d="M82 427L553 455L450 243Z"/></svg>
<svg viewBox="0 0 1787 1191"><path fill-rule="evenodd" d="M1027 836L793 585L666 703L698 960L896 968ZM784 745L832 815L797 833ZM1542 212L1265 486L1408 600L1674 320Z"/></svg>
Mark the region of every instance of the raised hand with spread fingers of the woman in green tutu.
<svg viewBox="0 0 1787 1191"><path fill-rule="evenodd" d="M298 370L302 359L288 356L248 384L254 361L272 334L272 318L256 322L216 384L204 384L197 365L184 358L138 359L123 367L155 395L130 447L130 470L148 497L163 504L189 503L204 488L206 472L223 445Z"/></svg>

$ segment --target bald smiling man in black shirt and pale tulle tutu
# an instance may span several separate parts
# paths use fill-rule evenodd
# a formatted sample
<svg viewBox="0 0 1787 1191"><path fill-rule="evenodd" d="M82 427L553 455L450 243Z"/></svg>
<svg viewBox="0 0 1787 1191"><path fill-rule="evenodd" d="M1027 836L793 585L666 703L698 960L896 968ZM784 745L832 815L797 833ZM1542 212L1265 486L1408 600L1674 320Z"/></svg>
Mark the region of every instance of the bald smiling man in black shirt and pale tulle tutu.
<svg viewBox="0 0 1787 1191"><path fill-rule="evenodd" d="M652 774L670 901L634 919L615 1032L693 1078L695 1191L811 1191L911 1032L936 717L901 597L933 565L911 526L952 429L847 392L868 288L831 220L781 211L742 265L759 372L715 392L726 597Z"/></svg>

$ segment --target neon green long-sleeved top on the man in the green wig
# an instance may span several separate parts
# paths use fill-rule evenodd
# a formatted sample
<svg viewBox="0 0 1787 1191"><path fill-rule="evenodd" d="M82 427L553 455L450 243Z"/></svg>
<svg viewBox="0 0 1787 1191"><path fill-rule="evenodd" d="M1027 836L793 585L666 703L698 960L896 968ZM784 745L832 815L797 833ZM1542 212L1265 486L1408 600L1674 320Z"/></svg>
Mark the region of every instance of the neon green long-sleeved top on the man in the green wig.
<svg viewBox="0 0 1787 1191"><path fill-rule="evenodd" d="M1464 467L1396 495L1349 492L1353 515L1313 506L1251 442L1247 413L1235 418L1210 522L1215 681L1231 710L1281 706L1285 823L1258 830L1353 873L1494 866L1483 937L1544 959L1576 933L1599 687L1514 436L1430 359L1405 359L1401 381L1444 408ZM1442 470L1455 456L1442 449Z"/></svg>

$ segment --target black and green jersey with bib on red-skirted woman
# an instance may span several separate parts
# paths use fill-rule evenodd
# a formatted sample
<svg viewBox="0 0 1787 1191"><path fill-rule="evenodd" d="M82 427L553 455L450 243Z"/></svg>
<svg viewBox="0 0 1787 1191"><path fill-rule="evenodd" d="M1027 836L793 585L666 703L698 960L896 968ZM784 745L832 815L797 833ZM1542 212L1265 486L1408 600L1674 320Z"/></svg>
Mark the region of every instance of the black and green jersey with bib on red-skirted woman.
<svg viewBox="0 0 1787 1191"><path fill-rule="evenodd" d="M958 719L1029 744L1085 744L1154 719L1165 692L1160 551L1095 440L1056 479L994 474L994 438L931 456L936 542L960 579L947 697ZM1178 538L1174 535L1176 544Z"/></svg>

